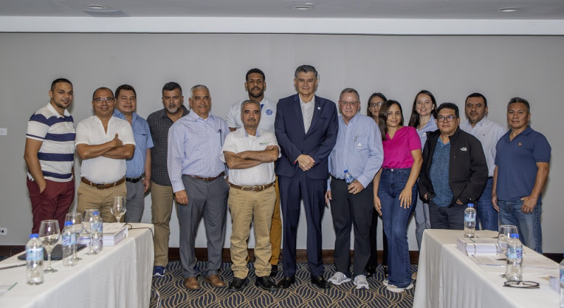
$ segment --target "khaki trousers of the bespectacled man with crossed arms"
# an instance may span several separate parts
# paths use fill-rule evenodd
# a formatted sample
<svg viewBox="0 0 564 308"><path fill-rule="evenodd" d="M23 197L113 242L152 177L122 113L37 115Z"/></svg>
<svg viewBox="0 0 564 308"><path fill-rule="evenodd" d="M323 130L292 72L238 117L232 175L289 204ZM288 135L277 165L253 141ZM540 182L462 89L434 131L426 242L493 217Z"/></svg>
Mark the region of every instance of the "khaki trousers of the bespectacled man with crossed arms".
<svg viewBox="0 0 564 308"><path fill-rule="evenodd" d="M82 215L85 209L98 209L104 223L115 223L116 216L111 214L111 207L114 205L114 196L127 197L127 194L125 182L105 190L99 190L96 187L80 182L77 190L78 204L76 206L76 212ZM125 204L125 207L127 209L127 204ZM123 221L123 217L121 221Z"/></svg>

